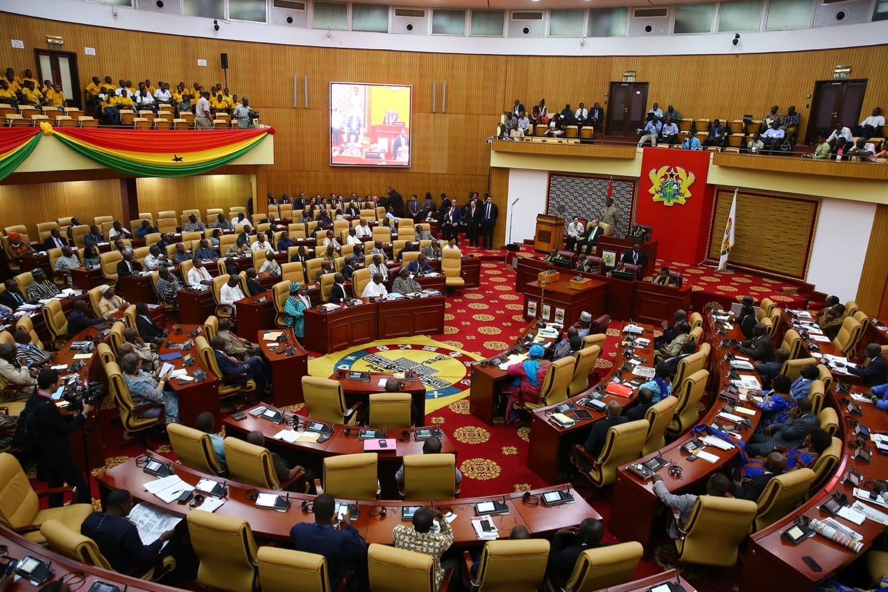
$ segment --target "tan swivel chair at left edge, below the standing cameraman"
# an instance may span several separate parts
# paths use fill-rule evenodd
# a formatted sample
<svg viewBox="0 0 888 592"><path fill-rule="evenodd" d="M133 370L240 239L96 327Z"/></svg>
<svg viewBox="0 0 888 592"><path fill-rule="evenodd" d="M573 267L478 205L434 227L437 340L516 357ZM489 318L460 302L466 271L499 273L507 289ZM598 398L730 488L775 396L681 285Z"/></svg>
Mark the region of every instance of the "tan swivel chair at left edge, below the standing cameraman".
<svg viewBox="0 0 888 592"><path fill-rule="evenodd" d="M51 492L36 493L18 459L9 453L0 453L0 484L0 522L29 541L44 541L40 525L47 520L58 520L79 533L83 520L93 512L88 503L40 509L38 498ZM65 491L73 492L74 488L66 487Z"/></svg>

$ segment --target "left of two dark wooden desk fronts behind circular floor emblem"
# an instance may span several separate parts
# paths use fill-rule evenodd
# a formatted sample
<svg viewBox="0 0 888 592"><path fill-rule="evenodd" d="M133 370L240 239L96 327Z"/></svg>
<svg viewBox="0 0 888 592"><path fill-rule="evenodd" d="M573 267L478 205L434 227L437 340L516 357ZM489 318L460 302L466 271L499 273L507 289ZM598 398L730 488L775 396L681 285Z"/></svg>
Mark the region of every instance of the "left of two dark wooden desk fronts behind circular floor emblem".
<svg viewBox="0 0 888 592"><path fill-rule="evenodd" d="M305 347L329 353L377 338L376 304L343 306L332 312L320 308L305 310Z"/></svg>

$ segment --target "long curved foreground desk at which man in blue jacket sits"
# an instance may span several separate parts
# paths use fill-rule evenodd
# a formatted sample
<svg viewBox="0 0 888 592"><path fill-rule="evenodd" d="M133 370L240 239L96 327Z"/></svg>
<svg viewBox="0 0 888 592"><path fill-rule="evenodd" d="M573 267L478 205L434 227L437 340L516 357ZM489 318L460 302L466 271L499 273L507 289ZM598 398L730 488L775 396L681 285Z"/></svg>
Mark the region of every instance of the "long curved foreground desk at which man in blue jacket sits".
<svg viewBox="0 0 888 592"><path fill-rule="evenodd" d="M154 454L152 455L154 456ZM157 456L157 458L166 461L163 457ZM221 480L199 471L188 469L183 465L174 463L172 466L175 473L190 485L196 485L201 478ZM164 504L160 498L147 493L145 484L155 480L155 477L136 466L134 459L105 471L97 479L102 487L103 497L111 490L123 488L130 490L132 496L139 501L145 501L183 516L187 512L193 511L189 509L187 504L179 504L176 501ZM285 514L281 514L273 509L257 508L255 501L250 501L246 497L247 491L251 489L247 485L228 481L227 488L226 502L216 510L216 513L247 520L258 539L286 541L289 540L289 529L292 525L298 522L314 521L313 513L307 509L302 509L302 502L308 501L310 503L314 499L313 495L290 493L290 508ZM559 488L538 489L532 491L531 494L538 496L540 493L556 489ZM564 488L561 487L560 489ZM262 489L259 491L262 493L280 493ZM509 533L511 533L511 529L518 525L527 526L527 530L535 534L551 533L559 528L577 525L587 517L601 518L599 513L583 501L583 497L578 494L574 495L574 503L551 507L543 506L542 503L532 505L532 503L524 501L522 495L523 493L511 493L462 500L440 500L434 501L434 506L441 509L449 508L457 515L456 520L451 525L454 529L455 543L462 546L480 544L475 535L471 520L475 516L474 504L479 501L505 501L506 506L509 508L509 514L493 517L496 528L503 538L507 538ZM341 501L355 502L355 500ZM401 524L400 509L403 506L428 506L430 501L358 500L357 503L360 509L360 516L352 522L355 528L358 529L368 543L377 542L391 545L392 528L395 525ZM385 516L370 516L371 512L377 514L384 507L386 509Z"/></svg>

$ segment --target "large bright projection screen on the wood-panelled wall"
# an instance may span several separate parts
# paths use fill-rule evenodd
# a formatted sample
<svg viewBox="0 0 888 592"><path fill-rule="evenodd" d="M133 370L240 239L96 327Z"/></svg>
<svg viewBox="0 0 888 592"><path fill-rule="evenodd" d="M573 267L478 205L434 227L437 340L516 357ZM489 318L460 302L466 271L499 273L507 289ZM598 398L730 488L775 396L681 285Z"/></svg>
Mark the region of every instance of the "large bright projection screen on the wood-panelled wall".
<svg viewBox="0 0 888 592"><path fill-rule="evenodd" d="M410 166L409 85L330 83L330 164Z"/></svg>

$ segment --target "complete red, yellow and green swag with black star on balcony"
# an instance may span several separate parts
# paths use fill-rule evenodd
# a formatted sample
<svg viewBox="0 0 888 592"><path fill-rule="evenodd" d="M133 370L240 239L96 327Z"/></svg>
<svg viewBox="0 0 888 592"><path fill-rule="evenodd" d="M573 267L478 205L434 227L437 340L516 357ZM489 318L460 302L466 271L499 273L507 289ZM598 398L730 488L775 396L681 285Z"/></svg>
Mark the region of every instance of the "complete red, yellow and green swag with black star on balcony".
<svg viewBox="0 0 888 592"><path fill-rule="evenodd" d="M98 130L54 128L59 141L109 169L141 177L187 177L217 169L258 146L274 128Z"/></svg>

